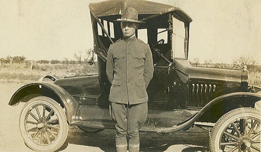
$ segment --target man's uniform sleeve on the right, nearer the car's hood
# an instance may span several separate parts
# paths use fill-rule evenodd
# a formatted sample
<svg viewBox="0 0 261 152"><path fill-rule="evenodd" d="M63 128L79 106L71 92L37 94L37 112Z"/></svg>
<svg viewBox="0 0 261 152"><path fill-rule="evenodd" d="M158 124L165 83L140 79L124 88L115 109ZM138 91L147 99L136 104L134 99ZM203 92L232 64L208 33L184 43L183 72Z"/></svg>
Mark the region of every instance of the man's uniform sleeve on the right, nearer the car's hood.
<svg viewBox="0 0 261 152"><path fill-rule="evenodd" d="M148 45L147 52L146 52L146 58L145 58L144 74L143 74L146 88L148 87L149 82L153 77L153 71L154 71L153 58L152 58L152 53L151 53L149 45Z"/></svg>

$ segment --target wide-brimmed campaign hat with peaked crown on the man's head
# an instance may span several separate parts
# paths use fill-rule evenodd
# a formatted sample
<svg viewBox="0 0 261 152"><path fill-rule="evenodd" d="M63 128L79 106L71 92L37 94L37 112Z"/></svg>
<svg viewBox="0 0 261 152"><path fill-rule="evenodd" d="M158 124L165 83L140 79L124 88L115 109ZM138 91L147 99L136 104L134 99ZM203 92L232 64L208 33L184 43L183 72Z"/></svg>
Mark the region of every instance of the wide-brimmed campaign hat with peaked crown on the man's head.
<svg viewBox="0 0 261 152"><path fill-rule="evenodd" d="M145 23L138 20L138 12L133 7L128 7L124 9L121 18L117 19L116 21L120 22L134 22L134 23Z"/></svg>

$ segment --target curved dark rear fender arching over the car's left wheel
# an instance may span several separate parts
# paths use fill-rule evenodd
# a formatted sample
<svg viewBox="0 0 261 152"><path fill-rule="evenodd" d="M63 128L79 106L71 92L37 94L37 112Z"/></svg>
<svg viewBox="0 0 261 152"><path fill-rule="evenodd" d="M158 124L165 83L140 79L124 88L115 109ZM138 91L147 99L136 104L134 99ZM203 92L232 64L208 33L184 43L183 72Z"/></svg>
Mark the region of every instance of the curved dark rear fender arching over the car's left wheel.
<svg viewBox="0 0 261 152"><path fill-rule="evenodd" d="M53 83L35 82L23 85L13 94L9 105L18 105L19 102L27 102L36 96L46 96L54 99L65 108L68 122L75 119L79 103L66 90Z"/></svg>

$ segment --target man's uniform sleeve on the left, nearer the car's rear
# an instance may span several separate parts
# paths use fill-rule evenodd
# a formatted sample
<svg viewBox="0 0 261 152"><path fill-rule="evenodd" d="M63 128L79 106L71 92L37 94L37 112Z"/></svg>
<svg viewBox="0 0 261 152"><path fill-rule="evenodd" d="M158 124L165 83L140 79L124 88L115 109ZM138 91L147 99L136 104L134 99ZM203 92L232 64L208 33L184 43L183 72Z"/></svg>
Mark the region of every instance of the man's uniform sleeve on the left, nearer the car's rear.
<svg viewBox="0 0 261 152"><path fill-rule="evenodd" d="M112 47L109 47L108 55L107 55L107 61L106 61L106 75L109 80L109 82L112 84L113 80L113 56L112 56Z"/></svg>

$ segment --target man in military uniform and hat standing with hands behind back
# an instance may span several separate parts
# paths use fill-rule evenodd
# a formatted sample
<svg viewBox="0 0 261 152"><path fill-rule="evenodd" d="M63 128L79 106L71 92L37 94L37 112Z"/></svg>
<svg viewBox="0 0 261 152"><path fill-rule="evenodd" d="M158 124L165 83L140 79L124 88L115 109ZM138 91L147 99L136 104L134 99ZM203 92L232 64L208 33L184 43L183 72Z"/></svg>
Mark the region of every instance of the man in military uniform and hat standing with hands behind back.
<svg viewBox="0 0 261 152"><path fill-rule="evenodd" d="M134 8L122 12L120 26L122 39L111 44L108 50L106 74L112 86L112 119L116 127L116 151L138 152L139 129L145 123L148 113L146 88L153 77L153 59L148 44L138 40L138 13ZM127 142L126 136L129 136Z"/></svg>

